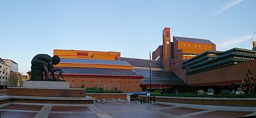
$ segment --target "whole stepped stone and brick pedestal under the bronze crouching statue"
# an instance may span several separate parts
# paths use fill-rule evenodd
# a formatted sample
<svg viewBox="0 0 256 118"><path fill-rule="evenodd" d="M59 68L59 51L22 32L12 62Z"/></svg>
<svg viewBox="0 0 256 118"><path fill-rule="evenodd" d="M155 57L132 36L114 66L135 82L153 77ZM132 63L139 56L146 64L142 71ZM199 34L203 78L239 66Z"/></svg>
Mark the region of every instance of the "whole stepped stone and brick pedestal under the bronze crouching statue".
<svg viewBox="0 0 256 118"><path fill-rule="evenodd" d="M14 102L93 104L85 88L69 88L69 82L25 81L24 87L7 87Z"/></svg>

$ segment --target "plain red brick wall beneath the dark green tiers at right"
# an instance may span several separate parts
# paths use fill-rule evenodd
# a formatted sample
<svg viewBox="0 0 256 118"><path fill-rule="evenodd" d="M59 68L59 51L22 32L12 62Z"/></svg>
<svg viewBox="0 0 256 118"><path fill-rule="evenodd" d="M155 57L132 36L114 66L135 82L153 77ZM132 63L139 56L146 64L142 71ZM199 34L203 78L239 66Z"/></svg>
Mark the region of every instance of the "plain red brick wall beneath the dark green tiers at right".
<svg viewBox="0 0 256 118"><path fill-rule="evenodd" d="M251 62L243 62L230 67L213 69L207 72L200 72L188 76L188 84L190 85L217 85L228 86L231 83L242 82L246 71L250 68L256 78L256 60Z"/></svg>

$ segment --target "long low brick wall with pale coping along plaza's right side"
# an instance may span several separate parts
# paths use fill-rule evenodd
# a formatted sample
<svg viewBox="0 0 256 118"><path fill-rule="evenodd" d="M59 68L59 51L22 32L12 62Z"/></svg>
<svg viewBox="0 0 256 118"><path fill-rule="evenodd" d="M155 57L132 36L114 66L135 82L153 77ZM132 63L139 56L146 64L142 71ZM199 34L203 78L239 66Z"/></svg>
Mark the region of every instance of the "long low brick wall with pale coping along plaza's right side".
<svg viewBox="0 0 256 118"><path fill-rule="evenodd" d="M140 100L149 102L149 97L138 96ZM156 102L181 104L203 104L230 107L256 107L256 98L216 98L216 97L155 97Z"/></svg>

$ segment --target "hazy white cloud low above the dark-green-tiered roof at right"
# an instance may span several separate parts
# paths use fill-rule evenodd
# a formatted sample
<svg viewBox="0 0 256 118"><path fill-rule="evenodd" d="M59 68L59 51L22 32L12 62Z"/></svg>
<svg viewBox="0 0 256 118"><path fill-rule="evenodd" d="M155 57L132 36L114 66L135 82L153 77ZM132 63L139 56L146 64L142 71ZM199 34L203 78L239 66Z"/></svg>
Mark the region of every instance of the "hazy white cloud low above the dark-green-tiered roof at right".
<svg viewBox="0 0 256 118"><path fill-rule="evenodd" d="M227 49L232 49L234 47L251 49L252 41L250 41L252 34L239 36L230 39L224 39L219 44L217 44L218 50L226 51Z"/></svg>

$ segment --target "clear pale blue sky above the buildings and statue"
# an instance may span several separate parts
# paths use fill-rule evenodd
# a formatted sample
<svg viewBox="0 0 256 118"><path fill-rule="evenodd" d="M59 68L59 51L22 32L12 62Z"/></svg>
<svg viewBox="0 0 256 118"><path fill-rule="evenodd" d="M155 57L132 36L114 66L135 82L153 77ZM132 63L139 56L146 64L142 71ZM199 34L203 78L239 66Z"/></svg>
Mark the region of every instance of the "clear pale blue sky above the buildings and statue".
<svg viewBox="0 0 256 118"><path fill-rule="evenodd" d="M255 0L0 0L0 57L26 74L53 49L120 51L149 59L171 36L210 39L217 50L252 49ZM253 41L256 41L256 36Z"/></svg>

